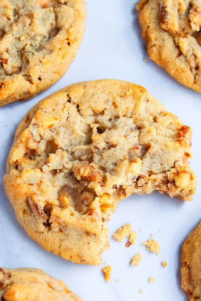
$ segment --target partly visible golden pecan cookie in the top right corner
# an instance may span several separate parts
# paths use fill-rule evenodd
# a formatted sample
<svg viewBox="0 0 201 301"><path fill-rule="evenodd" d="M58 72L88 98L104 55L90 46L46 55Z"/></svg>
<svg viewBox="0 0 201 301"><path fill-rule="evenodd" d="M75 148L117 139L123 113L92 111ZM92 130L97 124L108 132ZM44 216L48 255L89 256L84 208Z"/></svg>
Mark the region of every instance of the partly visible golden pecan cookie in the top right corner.
<svg viewBox="0 0 201 301"><path fill-rule="evenodd" d="M201 92L200 0L140 0L137 9L152 60Z"/></svg>

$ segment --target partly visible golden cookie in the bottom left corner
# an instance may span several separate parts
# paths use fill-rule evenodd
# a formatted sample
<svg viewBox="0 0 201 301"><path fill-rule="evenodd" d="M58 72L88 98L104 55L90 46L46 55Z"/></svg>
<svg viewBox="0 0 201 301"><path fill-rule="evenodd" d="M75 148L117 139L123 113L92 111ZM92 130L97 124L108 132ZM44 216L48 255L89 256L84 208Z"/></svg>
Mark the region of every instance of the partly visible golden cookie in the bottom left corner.
<svg viewBox="0 0 201 301"><path fill-rule="evenodd" d="M0 268L2 301L82 301L67 285L38 268Z"/></svg>

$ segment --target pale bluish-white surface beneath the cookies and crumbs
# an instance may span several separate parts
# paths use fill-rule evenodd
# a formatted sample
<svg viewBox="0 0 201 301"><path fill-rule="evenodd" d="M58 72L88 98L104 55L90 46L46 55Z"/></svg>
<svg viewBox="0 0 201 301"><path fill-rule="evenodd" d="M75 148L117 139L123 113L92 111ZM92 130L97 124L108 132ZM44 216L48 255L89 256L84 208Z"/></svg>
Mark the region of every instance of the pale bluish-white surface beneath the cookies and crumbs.
<svg viewBox="0 0 201 301"><path fill-rule="evenodd" d="M200 221L201 94L176 82L149 59L133 2L88 0L85 36L66 75L35 98L0 108L0 266L42 268L53 277L62 279L85 301L187 301L188 296L181 288L181 247L188 233ZM122 79L144 86L193 129L191 165L198 180L192 202L171 199L155 192L152 195L132 195L119 203L109 222L110 236L128 222L139 236L137 243L129 248L125 247L126 240L121 243L111 238L111 247L103 254L105 265L113 267L109 283L104 281L101 272L104 264L97 267L76 265L43 250L33 241L17 222L2 184L16 128L27 111L66 85L102 78ZM151 233L160 244L159 256L141 244L150 238ZM142 253L141 263L132 267L130 260L138 252ZM161 266L163 260L168 262L166 268ZM149 283L149 276L155 278L153 284ZM120 281L116 283L116 279ZM144 293L139 293L139 289Z"/></svg>

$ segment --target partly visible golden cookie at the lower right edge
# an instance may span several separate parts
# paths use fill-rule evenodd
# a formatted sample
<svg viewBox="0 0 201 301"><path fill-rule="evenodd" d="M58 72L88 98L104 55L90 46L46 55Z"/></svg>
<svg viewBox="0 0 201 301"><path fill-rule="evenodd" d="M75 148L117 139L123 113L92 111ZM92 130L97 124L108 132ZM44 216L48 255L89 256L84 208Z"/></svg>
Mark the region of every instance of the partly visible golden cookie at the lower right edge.
<svg viewBox="0 0 201 301"><path fill-rule="evenodd" d="M181 262L183 289L190 301L201 300L201 222L184 242Z"/></svg>

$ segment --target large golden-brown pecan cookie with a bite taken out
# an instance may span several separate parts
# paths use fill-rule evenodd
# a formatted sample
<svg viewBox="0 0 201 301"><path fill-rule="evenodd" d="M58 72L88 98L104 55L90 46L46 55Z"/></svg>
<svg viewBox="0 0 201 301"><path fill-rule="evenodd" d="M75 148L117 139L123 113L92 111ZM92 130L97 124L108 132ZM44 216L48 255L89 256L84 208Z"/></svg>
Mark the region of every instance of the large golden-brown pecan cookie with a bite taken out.
<svg viewBox="0 0 201 301"><path fill-rule="evenodd" d="M190 141L191 129L143 87L73 84L20 123L5 190L20 224L46 250L99 265L121 199L153 190L192 199Z"/></svg>

